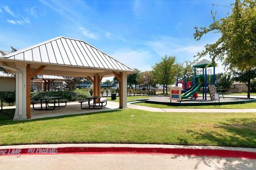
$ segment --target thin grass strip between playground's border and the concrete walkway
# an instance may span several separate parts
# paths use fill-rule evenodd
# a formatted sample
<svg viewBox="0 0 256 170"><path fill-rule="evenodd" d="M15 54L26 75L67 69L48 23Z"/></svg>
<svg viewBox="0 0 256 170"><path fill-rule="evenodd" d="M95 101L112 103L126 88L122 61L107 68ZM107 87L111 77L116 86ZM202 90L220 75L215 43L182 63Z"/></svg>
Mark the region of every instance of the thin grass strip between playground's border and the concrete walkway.
<svg viewBox="0 0 256 170"><path fill-rule="evenodd" d="M256 109L256 102L245 104L227 104L217 106L167 106L165 104L152 104L152 103L134 103L139 106L148 106L153 108L194 108L194 109ZM218 104L218 103L217 103Z"/></svg>

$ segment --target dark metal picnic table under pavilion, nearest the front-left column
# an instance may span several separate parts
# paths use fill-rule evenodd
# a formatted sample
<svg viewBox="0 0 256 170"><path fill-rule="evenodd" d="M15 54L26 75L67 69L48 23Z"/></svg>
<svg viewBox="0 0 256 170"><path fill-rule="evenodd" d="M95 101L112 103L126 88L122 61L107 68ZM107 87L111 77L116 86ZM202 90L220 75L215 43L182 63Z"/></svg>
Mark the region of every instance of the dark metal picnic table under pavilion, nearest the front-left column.
<svg viewBox="0 0 256 170"><path fill-rule="evenodd" d="M62 107L66 107L67 106L67 101L62 101L60 102L61 97L60 96L51 96L51 97L45 97L45 98L39 98L39 101L33 101L31 102L33 104L33 109L34 110L54 110L55 108L62 108ZM50 100L53 100L53 106L50 106ZM57 101L58 100L58 101ZM35 104L36 103L40 103L41 104L41 108L40 109L36 109L35 108ZM43 108L43 104L45 103L45 108ZM65 103L65 106L60 106L60 103ZM58 104L56 106L56 104Z"/></svg>

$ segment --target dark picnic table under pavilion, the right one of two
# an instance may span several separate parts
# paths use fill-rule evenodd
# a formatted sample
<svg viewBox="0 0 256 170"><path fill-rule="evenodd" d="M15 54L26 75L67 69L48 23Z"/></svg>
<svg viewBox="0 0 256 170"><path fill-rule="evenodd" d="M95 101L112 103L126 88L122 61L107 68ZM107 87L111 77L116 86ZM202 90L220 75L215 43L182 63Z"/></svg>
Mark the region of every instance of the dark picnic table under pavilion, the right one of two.
<svg viewBox="0 0 256 170"><path fill-rule="evenodd" d="M85 98L85 100L83 101L79 101L79 103L81 103L81 108L82 109L102 109L103 106L107 105L107 100L102 100L100 101L100 98L102 98L101 96L92 96L92 97L87 97ZM93 104L90 104L90 101L93 100ZM99 100L99 104L97 104L97 100ZM83 107L83 103L84 102L88 102L88 107ZM103 105L103 103L106 103L105 105Z"/></svg>

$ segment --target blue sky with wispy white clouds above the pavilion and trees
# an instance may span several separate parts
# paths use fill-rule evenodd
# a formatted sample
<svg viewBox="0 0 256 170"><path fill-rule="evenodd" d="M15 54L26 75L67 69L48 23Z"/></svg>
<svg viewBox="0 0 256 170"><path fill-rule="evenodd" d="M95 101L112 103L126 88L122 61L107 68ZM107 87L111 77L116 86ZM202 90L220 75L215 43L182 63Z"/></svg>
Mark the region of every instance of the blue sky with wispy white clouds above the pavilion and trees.
<svg viewBox="0 0 256 170"><path fill-rule="evenodd" d="M194 60L219 35L193 38L211 10L225 17L234 1L0 1L0 49L57 36L82 39L132 68L149 70L165 54ZM214 4L214 5L213 5ZM217 72L222 71L219 66Z"/></svg>

